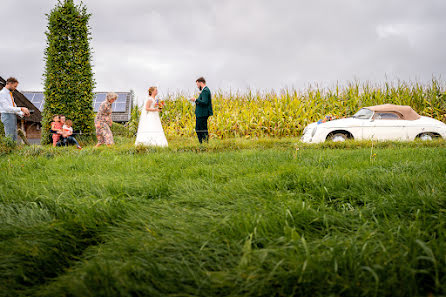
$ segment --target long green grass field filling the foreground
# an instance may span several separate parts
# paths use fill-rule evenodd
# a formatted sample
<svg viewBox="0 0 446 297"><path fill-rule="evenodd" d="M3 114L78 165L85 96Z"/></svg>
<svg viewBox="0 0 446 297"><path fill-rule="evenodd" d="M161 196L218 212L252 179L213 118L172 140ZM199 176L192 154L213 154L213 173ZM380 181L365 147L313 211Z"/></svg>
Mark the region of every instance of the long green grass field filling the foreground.
<svg viewBox="0 0 446 297"><path fill-rule="evenodd" d="M0 156L1 296L446 294L446 142Z"/></svg>

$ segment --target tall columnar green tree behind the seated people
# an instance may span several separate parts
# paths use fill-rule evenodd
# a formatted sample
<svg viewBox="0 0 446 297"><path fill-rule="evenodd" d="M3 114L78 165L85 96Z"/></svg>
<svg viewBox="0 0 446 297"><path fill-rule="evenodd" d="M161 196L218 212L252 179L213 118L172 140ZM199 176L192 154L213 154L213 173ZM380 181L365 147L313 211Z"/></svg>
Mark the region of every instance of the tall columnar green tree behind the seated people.
<svg viewBox="0 0 446 297"><path fill-rule="evenodd" d="M84 5L75 5L73 0L59 1L47 14L42 143L50 141L53 114L71 119L75 131L93 135L95 82L89 44L90 16Z"/></svg>

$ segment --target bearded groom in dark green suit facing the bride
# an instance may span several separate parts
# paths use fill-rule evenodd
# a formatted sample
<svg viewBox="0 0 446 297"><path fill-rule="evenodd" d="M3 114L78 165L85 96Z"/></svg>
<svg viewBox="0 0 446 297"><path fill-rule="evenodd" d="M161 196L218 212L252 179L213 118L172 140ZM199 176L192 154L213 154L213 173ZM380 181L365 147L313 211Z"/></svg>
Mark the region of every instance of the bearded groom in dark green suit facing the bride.
<svg viewBox="0 0 446 297"><path fill-rule="evenodd" d="M195 102L195 131L197 132L198 141L208 142L208 118L213 115L212 113L212 99L211 91L206 86L206 80L204 77L198 78L196 81L198 89L201 91L198 98L191 98L191 101Z"/></svg>

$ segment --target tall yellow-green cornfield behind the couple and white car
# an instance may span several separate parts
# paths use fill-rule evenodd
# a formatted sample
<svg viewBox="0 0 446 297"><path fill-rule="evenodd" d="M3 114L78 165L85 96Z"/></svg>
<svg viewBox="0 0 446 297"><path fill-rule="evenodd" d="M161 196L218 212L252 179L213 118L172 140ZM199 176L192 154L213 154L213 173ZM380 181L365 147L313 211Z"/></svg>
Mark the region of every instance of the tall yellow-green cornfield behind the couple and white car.
<svg viewBox="0 0 446 297"><path fill-rule="evenodd" d="M353 115L361 107L393 103L410 105L420 115L446 121L445 84L432 79L429 84L371 84L351 82L333 89L308 87L303 92L224 93L214 91L214 116L209 133L214 138L298 136L305 126L330 114L335 118ZM212 90L211 90L212 91ZM167 135L193 135L194 105L186 96L169 95L161 115Z"/></svg>

